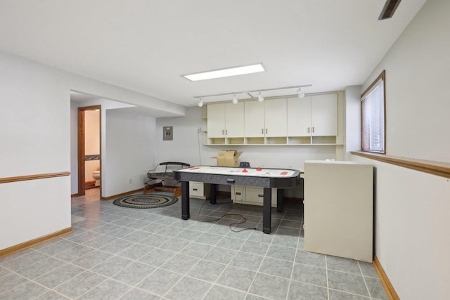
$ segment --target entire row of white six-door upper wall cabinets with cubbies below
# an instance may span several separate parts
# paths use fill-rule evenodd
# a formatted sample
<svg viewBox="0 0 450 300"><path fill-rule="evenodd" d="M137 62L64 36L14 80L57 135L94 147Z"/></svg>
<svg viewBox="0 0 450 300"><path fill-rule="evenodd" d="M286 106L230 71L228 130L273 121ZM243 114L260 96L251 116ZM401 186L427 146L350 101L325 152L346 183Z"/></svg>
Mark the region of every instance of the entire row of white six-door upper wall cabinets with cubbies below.
<svg viewBox="0 0 450 300"><path fill-rule="evenodd" d="M336 145L338 103L338 93L323 93L208 104L205 144Z"/></svg>

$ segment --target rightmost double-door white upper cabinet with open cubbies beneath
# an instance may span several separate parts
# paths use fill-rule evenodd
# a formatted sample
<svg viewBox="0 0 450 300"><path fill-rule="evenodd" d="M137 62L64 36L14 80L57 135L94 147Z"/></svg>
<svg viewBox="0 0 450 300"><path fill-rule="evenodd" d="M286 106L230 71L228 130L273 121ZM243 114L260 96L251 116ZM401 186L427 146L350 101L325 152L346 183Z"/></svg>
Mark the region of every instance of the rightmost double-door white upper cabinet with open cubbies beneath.
<svg viewBox="0 0 450 300"><path fill-rule="evenodd" d="M337 93L288 98L289 143L335 143L337 135Z"/></svg>

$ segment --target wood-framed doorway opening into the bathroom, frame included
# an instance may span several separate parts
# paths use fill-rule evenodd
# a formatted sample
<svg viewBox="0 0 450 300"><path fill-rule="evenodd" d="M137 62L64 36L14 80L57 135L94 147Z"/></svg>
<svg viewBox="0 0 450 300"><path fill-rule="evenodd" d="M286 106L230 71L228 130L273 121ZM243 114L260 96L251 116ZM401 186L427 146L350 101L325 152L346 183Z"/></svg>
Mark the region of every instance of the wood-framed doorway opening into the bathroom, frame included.
<svg viewBox="0 0 450 300"><path fill-rule="evenodd" d="M91 118L89 117L91 113L98 114L98 117L94 118L94 120L98 120L95 121L98 122L98 132L96 132L96 126L94 126L94 132L91 131L92 128L90 127L93 127L91 124ZM89 174L87 174L86 171L89 172ZM93 177L94 171L100 171L99 180L96 180ZM86 188L97 188L96 184L98 184L98 188L100 188L101 196L101 181L103 177L101 175L101 105L78 107L77 196L86 195Z"/></svg>

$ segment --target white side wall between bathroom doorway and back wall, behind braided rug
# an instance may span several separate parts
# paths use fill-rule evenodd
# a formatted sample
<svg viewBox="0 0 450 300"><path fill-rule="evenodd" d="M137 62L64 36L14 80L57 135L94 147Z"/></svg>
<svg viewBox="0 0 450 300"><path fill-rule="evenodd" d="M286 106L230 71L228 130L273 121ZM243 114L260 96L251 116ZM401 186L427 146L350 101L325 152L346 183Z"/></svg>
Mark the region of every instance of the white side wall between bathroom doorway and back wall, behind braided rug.
<svg viewBox="0 0 450 300"><path fill-rule="evenodd" d="M103 197L143 188L155 164L155 118L107 110L105 138Z"/></svg>

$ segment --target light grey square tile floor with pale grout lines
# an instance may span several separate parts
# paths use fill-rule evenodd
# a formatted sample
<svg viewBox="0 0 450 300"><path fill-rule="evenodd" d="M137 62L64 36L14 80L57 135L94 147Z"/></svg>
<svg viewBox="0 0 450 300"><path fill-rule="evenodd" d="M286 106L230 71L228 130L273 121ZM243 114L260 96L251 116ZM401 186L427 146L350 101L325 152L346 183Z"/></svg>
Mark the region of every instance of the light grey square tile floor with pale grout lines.
<svg viewBox="0 0 450 300"><path fill-rule="evenodd" d="M74 233L0 259L0 299L388 299L371 263L303 251L299 202L266 235L261 208L226 199L191 200L184 221L180 201L129 209L86 192ZM236 214L234 230L258 230L232 231Z"/></svg>

